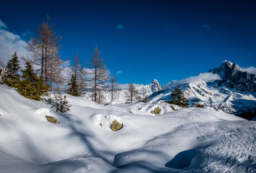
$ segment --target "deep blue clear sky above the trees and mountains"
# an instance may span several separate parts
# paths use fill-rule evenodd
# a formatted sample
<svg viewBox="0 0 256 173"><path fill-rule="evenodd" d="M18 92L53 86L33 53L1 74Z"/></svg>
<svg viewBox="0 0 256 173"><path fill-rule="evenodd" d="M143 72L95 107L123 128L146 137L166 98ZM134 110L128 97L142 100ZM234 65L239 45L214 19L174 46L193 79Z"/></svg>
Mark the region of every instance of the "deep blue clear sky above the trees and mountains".
<svg viewBox="0 0 256 173"><path fill-rule="evenodd" d="M255 1L6 1L0 19L26 40L49 14L61 59L78 52L86 64L97 43L118 82L166 84L225 59L256 66L255 9Z"/></svg>

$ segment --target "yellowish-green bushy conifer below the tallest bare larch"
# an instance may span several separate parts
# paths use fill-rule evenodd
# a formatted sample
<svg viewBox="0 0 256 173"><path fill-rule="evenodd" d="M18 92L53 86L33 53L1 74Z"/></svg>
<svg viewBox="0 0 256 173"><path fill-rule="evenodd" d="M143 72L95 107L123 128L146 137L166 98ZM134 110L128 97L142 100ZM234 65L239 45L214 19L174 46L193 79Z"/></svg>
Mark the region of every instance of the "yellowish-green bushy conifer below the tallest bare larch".
<svg viewBox="0 0 256 173"><path fill-rule="evenodd" d="M15 85L19 93L33 100L40 100L40 89L38 88L38 77L30 63L26 63L25 70L22 71L22 80Z"/></svg>

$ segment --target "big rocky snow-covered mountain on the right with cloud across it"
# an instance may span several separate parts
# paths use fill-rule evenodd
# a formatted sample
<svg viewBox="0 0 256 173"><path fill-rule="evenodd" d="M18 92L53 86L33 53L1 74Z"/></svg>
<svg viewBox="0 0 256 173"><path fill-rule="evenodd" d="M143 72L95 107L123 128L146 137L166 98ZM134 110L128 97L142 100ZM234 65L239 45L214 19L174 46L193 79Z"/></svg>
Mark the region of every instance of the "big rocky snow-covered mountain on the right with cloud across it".
<svg viewBox="0 0 256 173"><path fill-rule="evenodd" d="M173 87L178 85L184 90L191 106L201 103L232 114L256 110L255 75L241 71L236 63L230 61L224 61L219 67L198 77L170 82L150 95L150 102L169 100Z"/></svg>

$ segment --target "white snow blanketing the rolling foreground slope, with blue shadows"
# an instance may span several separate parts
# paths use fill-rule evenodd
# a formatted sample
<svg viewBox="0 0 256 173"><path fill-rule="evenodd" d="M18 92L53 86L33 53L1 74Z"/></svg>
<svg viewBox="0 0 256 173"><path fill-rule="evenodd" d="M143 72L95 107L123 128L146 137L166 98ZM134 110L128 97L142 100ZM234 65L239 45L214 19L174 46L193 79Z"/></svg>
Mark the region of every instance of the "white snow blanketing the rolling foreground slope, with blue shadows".
<svg viewBox="0 0 256 173"><path fill-rule="evenodd" d="M256 170L255 121L212 107L173 111L160 101L104 106L83 97L67 100L71 111L57 113L0 85L1 172ZM150 113L155 107L161 115ZM113 132L115 119L124 126Z"/></svg>

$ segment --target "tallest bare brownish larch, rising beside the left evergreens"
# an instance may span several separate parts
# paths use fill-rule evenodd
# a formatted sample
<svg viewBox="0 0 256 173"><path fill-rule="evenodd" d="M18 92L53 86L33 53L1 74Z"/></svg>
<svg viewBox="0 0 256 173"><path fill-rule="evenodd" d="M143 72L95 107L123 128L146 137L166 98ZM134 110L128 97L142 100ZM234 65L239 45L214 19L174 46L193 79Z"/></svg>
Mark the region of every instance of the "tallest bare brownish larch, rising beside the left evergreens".
<svg viewBox="0 0 256 173"><path fill-rule="evenodd" d="M31 64L39 66L36 71L40 71L44 79L45 86L52 89L52 83L61 82L61 59L58 56L60 49L59 41L61 37L56 36L52 29L49 16L46 22L42 22L38 28L35 38L31 38L28 43L28 50L31 52Z"/></svg>

